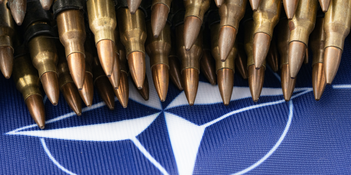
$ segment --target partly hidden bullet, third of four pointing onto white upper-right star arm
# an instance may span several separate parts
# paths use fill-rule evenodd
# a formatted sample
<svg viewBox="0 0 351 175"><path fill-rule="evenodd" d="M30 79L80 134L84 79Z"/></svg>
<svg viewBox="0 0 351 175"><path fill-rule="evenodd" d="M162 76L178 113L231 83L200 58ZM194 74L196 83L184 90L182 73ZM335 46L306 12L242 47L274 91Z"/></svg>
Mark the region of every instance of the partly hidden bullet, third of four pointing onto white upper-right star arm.
<svg viewBox="0 0 351 175"><path fill-rule="evenodd" d="M263 62L260 69L254 68L253 63L253 34L255 23L253 20L246 20L244 23L245 38L244 47L247 55L247 75L249 79L249 87L253 102L258 102L261 95L264 82L264 73L266 70L266 61Z"/></svg>

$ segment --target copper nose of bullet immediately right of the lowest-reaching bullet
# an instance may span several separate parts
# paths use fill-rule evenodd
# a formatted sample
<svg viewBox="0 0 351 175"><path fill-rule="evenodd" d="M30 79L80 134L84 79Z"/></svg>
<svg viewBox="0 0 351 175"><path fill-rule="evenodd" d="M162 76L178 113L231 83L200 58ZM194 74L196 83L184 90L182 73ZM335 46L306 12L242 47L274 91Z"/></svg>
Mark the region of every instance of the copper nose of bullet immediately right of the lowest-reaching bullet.
<svg viewBox="0 0 351 175"><path fill-rule="evenodd" d="M60 90L57 73L45 72L41 76L41 83L50 102L56 106L59 102Z"/></svg>

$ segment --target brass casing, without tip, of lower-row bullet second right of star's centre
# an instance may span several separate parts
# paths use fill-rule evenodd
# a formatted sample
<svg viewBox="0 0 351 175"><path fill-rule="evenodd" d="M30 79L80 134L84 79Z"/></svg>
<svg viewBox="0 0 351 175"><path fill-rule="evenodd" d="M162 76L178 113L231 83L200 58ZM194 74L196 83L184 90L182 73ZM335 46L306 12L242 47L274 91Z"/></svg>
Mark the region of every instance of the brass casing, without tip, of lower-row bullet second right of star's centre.
<svg viewBox="0 0 351 175"><path fill-rule="evenodd" d="M237 56L238 50L237 50L237 43L234 43L234 46L232 50L230 51L229 56L227 59L222 62L219 57L219 49L218 49L218 37L219 37L219 28L220 28L220 23L216 23L211 25L210 30L211 30L211 51L214 59L216 60L216 73L219 69L223 68L228 68L232 69L233 72L235 71L234 69L234 59Z"/></svg>

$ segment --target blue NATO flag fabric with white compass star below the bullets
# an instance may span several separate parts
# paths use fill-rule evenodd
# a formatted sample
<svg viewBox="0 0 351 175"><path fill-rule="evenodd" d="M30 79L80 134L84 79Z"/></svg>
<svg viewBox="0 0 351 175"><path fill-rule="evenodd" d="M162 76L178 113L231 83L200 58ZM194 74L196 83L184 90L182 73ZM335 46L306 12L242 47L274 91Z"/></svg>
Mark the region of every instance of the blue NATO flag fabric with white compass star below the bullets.
<svg viewBox="0 0 351 175"><path fill-rule="evenodd" d="M148 101L130 86L128 107L116 98L110 111L95 92L78 117L62 94L57 106L44 96L44 130L13 80L1 76L0 174L350 174L350 42L319 102L311 54L290 102L270 68L258 103L238 73L229 106L202 75L194 106L172 83L160 102L147 65Z"/></svg>

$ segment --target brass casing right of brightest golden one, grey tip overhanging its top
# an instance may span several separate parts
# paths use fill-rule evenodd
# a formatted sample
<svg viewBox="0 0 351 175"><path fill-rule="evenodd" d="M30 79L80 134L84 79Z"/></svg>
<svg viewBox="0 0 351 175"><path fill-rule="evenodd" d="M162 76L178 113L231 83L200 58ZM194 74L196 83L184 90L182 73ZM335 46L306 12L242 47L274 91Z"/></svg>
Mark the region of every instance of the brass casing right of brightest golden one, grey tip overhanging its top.
<svg viewBox="0 0 351 175"><path fill-rule="evenodd" d="M146 41L145 14L140 8L135 14L130 14L128 8L121 7L117 12L118 29L121 42L125 46L126 56L139 51L145 54Z"/></svg>

